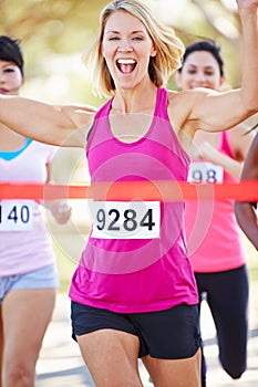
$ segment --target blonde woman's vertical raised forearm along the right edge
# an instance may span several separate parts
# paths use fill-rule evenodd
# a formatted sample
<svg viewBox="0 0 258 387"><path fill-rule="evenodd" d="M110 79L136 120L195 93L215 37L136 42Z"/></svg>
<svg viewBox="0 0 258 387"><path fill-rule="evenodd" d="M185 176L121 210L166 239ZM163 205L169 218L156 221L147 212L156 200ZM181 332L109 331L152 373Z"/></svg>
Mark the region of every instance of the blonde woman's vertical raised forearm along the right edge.
<svg viewBox="0 0 258 387"><path fill-rule="evenodd" d="M258 29L256 1L239 1L242 30L241 97L250 112L258 111Z"/></svg>

